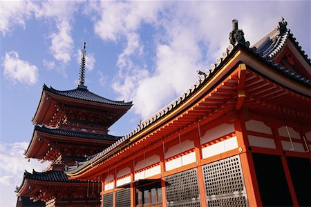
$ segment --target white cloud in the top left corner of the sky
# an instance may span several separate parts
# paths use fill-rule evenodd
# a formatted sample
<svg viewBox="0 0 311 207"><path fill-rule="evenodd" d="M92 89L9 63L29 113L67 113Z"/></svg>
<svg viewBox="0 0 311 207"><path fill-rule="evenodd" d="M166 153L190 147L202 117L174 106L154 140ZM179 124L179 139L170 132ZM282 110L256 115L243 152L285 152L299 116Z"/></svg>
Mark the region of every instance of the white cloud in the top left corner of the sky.
<svg viewBox="0 0 311 207"><path fill-rule="evenodd" d="M15 25L26 28L35 4L31 1L0 1L0 31L2 35L10 34Z"/></svg>

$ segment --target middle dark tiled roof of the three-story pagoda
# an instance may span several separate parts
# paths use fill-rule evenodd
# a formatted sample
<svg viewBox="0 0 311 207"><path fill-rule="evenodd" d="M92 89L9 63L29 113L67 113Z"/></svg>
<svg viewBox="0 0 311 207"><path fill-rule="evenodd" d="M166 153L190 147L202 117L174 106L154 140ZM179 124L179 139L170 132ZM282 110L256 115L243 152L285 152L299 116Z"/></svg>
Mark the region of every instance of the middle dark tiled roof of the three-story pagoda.
<svg viewBox="0 0 311 207"><path fill-rule="evenodd" d="M113 135L97 135L87 132L75 132L72 130L61 130L57 128L46 128L45 126L35 126L35 130L39 132L46 132L53 135L60 135L66 137L79 137L84 139L100 139L100 140L109 140L109 141L117 141L121 137L113 136Z"/></svg>

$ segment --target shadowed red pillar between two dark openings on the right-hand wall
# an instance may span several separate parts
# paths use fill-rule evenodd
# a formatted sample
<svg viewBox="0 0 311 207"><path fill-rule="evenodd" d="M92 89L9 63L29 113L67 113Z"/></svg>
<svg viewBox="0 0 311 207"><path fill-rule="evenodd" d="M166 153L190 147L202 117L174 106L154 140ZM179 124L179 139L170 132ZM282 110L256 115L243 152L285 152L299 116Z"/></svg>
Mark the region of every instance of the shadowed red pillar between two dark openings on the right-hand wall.
<svg viewBox="0 0 311 207"><path fill-rule="evenodd" d="M283 152L283 147L281 144L281 137L279 136L279 132L277 130L277 127L272 126L271 128L272 128L272 133L273 133L274 138L275 138L274 140L275 140L276 148L280 152ZM299 206L298 200L296 197L296 192L294 189L294 184L292 183L292 177L290 176L290 169L288 168L288 161L286 161L286 157L283 154L281 155L281 161L282 161L286 181L288 182L288 188L290 190L290 195L292 196L292 204L294 204L294 206Z"/></svg>

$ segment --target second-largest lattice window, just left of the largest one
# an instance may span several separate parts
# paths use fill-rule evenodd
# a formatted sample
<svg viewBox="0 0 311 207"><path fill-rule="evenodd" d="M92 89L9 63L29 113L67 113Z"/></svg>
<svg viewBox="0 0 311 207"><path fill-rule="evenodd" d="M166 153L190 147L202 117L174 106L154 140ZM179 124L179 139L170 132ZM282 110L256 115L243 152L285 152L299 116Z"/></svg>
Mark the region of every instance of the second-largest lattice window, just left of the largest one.
<svg viewBox="0 0 311 207"><path fill-rule="evenodd" d="M196 169L165 177L167 206L200 206Z"/></svg>

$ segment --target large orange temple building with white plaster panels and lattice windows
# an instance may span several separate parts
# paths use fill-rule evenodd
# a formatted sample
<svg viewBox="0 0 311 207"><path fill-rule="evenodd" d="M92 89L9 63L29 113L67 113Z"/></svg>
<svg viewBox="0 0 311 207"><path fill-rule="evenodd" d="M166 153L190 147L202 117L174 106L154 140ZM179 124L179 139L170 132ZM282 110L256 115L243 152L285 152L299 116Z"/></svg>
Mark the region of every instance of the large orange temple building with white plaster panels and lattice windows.
<svg viewBox="0 0 311 207"><path fill-rule="evenodd" d="M252 46L232 21L222 57L197 72L69 180L100 181L103 207L311 206L311 61L284 19Z"/></svg>

